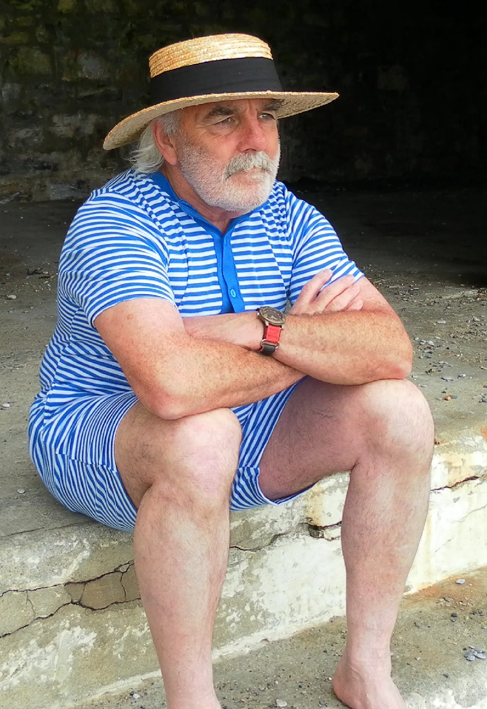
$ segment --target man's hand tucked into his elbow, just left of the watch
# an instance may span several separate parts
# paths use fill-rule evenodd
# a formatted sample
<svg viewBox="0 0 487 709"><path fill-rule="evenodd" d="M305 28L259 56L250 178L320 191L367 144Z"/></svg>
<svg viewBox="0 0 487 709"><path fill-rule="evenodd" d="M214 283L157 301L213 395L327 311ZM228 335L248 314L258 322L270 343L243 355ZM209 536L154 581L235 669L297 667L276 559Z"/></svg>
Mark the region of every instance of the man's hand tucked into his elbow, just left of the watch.
<svg viewBox="0 0 487 709"><path fill-rule="evenodd" d="M197 340L219 340L257 351L263 336L263 324L256 311L183 318L186 333Z"/></svg>

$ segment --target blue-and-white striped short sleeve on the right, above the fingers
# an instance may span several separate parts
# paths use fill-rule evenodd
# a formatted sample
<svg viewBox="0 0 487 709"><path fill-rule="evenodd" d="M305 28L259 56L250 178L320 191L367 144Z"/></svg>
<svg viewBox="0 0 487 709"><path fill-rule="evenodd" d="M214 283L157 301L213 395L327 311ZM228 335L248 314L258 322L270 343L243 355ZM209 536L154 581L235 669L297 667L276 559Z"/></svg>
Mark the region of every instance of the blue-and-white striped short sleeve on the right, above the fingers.
<svg viewBox="0 0 487 709"><path fill-rule="evenodd" d="M314 206L290 194L290 236L293 244L292 278L288 297L295 303L302 287L316 273L329 268L331 281L352 275L363 276L355 262L348 258L340 239L328 220Z"/></svg>

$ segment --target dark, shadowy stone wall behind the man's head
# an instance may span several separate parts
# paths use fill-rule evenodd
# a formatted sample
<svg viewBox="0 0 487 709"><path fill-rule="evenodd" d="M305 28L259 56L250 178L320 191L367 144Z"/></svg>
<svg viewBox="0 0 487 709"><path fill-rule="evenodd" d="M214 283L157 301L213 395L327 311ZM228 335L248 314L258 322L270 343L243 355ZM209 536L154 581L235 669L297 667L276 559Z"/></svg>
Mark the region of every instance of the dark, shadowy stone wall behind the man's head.
<svg viewBox="0 0 487 709"><path fill-rule="evenodd" d="M289 89L331 106L282 122L282 179L475 174L486 58L468 4L411 0L0 1L0 200L79 198L124 166L104 135L147 100L166 43L244 31ZM480 12L480 8L479 8Z"/></svg>

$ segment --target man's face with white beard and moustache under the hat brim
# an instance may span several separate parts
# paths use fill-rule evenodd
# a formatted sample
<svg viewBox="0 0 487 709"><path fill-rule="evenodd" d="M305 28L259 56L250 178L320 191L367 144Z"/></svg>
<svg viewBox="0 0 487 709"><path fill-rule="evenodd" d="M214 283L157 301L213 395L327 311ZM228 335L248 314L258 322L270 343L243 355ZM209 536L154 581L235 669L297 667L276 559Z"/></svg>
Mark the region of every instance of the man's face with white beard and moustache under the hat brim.
<svg viewBox="0 0 487 709"><path fill-rule="evenodd" d="M172 136L178 167L210 206L246 213L263 204L279 167L275 101L224 101L183 110Z"/></svg>

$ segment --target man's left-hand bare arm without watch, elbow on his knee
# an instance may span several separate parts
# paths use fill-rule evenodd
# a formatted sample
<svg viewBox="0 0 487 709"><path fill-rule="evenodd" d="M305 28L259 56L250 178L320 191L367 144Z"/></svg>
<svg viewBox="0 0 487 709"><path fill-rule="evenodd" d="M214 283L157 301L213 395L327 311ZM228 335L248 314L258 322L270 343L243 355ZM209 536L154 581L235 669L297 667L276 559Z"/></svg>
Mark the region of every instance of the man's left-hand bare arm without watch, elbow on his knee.
<svg viewBox="0 0 487 709"><path fill-rule="evenodd" d="M118 303L95 326L139 401L164 419L258 401L303 376L241 345L191 337L159 298Z"/></svg>

